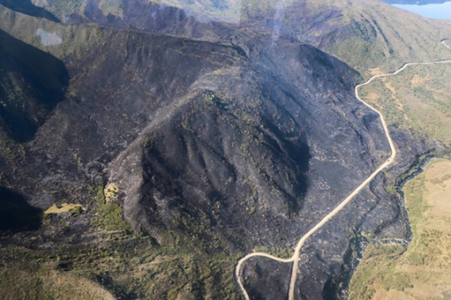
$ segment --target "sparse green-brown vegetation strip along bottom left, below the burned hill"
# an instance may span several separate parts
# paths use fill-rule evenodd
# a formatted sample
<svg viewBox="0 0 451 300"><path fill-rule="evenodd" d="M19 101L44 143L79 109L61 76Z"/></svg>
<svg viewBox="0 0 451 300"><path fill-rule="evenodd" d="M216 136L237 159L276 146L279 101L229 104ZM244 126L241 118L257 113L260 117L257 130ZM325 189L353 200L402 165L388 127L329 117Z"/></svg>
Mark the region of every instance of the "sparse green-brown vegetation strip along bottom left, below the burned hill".
<svg viewBox="0 0 451 300"><path fill-rule="evenodd" d="M140 236L99 247L0 249L0 290L12 298L53 299L70 293L78 299L108 299L104 287L128 299L239 299L233 268L241 254L206 254L195 240L176 238L186 243L164 247ZM52 278L59 279L52 283ZM77 286L82 289L75 292Z"/></svg>

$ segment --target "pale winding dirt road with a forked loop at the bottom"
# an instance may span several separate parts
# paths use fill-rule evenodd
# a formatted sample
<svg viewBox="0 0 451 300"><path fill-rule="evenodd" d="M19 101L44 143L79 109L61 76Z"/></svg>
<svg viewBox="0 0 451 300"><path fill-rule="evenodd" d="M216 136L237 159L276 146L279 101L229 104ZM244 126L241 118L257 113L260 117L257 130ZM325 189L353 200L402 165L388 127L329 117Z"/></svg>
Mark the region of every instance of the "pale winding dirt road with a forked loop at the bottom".
<svg viewBox="0 0 451 300"><path fill-rule="evenodd" d="M443 46L445 46L446 48L451 50L451 46L448 46L445 43L445 41L446 40L443 40L443 41L441 41L441 43L443 44ZM302 246L304 245L304 242L311 235L316 233L317 230L319 230L321 227L323 227L330 219L332 219L333 216L338 214L338 212L340 212L346 206L346 204L348 204L357 194L359 194L359 192L368 183L370 183L370 181L372 181L374 177L376 177L383 169L386 169L387 167L390 166L390 164L393 164L393 162L395 161L395 157L396 157L395 143L393 143L393 139L390 136L390 131L388 131L387 123L385 122L385 119L384 119L383 115L381 114L381 112L379 112L378 110L376 110L375 107L369 105L364 100L362 100L362 98L360 98L360 96L359 96L359 89L362 86L366 86L367 84L370 84L374 79L378 79L378 78L382 78L382 77L390 77L390 76L399 74L400 72L405 70L410 65L435 65L435 64L440 64L440 63L451 63L451 60L438 60L438 61L431 62L431 63L406 63L405 65L400 67L400 69L398 69L395 72L390 72L390 73L387 73L387 74L380 74L380 75L373 76L370 79L368 79L366 82L364 82L363 84L358 84L357 86L355 86L354 93L355 93L355 96L356 96L357 100L362 102L367 107L371 108L371 110L377 112L377 114L381 118L383 130L385 132L385 137L388 140L388 143L390 145L390 150L391 150L392 154L390 155L390 157L388 157L388 159L383 164L381 164L380 167L378 167L378 169L376 169L376 171L373 171L373 173L370 176L368 176L362 183L360 183L360 185L355 190L353 190L352 193L350 193L350 195L347 195L347 197L345 197L345 199L342 200L342 202L340 202L340 204L338 204L332 211L330 211L330 213L328 213L326 216L324 216L323 219L321 219L321 221L319 221L319 223L316 224L316 226L311 228L305 235L303 235L301 237L299 242L297 242L297 245L296 245L296 248L295 248L295 252L293 253L293 255L291 256L290 259L280 259L280 258L278 258L276 256L273 256L271 254L267 254L267 253L264 253L264 252L253 252L251 254L247 254L247 256L245 256L242 259L240 259L240 261L238 261L238 263L237 263L237 266L235 267L235 278L236 278L238 286L240 287L241 292L242 292L242 294L243 294L243 296L245 297L246 300L249 300L249 295L247 294L246 289L245 289L244 285L242 284L240 271L241 271L241 268L242 268L242 264L245 261L247 261L247 259L250 259L250 258L256 257L256 256L266 257L268 259L273 259L274 261L280 261L280 262L283 262L283 263L293 263L292 271L291 271L290 290L288 292L288 299L289 300L295 299L295 285L296 285L296 280L297 280L297 270L298 270L298 267L299 267L299 254L301 252Z"/></svg>

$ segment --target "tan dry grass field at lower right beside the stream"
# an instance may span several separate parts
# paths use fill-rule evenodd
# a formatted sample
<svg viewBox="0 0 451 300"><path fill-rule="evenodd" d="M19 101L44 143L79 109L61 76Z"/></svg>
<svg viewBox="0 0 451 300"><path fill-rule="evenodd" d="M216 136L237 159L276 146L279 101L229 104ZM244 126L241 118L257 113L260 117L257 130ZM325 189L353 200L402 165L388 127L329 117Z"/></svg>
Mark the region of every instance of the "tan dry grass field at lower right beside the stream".
<svg viewBox="0 0 451 300"><path fill-rule="evenodd" d="M435 160L404 193L414 239L407 249L371 244L350 299L450 299L451 162Z"/></svg>

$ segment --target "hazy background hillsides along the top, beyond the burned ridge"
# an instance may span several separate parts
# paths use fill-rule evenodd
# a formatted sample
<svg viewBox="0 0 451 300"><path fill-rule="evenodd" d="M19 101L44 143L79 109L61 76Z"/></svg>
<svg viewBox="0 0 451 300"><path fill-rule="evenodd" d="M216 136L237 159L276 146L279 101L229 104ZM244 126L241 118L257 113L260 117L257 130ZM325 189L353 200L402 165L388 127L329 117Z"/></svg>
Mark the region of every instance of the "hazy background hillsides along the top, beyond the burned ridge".
<svg viewBox="0 0 451 300"><path fill-rule="evenodd" d="M273 39L285 36L312 44L366 76L371 68L375 69L372 72L388 72L407 61L445 58L447 52L440 41L451 35L450 21L420 18L378 0L75 2L80 9L68 16L67 22L94 21L109 27L243 45L249 43L246 29L251 27L271 32ZM44 7L58 11L64 3ZM117 10L119 13L109 13ZM152 18L147 18L149 15ZM226 28L230 27L240 34L228 34Z"/></svg>

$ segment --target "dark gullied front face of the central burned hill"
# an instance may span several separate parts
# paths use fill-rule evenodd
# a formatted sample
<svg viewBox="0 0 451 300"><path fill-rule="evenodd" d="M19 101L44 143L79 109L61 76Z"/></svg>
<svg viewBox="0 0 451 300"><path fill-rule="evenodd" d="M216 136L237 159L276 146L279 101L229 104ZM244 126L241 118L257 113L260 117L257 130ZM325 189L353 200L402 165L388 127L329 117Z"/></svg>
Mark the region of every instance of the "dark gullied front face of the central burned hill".
<svg viewBox="0 0 451 300"><path fill-rule="evenodd" d="M254 227L261 214L273 227L299 213L308 185L307 136L274 103L283 93L254 92L246 103L199 93L149 133L141 203L158 211L149 221L201 237L219 232L237 247L242 237L261 234ZM260 103L264 96L271 100ZM208 229L193 233L196 223Z"/></svg>

